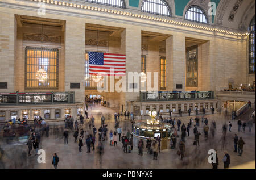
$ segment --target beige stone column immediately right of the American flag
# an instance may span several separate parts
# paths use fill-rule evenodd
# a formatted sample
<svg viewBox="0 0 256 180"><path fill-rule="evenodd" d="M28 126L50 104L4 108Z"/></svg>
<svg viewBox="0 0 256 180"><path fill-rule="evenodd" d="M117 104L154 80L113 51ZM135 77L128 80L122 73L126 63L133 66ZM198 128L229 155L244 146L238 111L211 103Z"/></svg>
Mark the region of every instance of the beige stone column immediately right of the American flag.
<svg viewBox="0 0 256 180"><path fill-rule="evenodd" d="M128 83L128 74L129 72L141 73L141 28L137 26L129 26L121 32L121 53L126 55L126 92L120 94L120 109L123 105L123 108L127 107L127 100L136 101L139 99L139 91L141 91L141 78L137 83L139 91L136 92L136 89L133 89L133 92L128 92L128 89L132 84ZM133 110L132 110L133 112Z"/></svg>

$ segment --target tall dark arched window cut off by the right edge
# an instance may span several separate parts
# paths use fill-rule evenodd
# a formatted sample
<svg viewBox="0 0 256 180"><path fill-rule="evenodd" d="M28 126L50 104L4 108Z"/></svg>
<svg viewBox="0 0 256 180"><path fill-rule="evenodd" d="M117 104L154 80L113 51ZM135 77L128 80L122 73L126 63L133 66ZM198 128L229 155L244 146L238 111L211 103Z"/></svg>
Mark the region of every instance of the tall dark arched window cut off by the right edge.
<svg viewBox="0 0 256 180"><path fill-rule="evenodd" d="M249 26L249 74L255 74L255 16Z"/></svg>

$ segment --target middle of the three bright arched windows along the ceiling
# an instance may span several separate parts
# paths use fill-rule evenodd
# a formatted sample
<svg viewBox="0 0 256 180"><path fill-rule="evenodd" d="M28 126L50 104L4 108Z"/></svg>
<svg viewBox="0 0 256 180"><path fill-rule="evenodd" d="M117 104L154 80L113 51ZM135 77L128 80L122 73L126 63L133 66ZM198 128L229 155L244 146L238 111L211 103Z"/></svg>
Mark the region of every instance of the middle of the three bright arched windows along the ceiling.
<svg viewBox="0 0 256 180"><path fill-rule="evenodd" d="M141 10L151 14L171 16L171 9L163 0L142 0Z"/></svg>

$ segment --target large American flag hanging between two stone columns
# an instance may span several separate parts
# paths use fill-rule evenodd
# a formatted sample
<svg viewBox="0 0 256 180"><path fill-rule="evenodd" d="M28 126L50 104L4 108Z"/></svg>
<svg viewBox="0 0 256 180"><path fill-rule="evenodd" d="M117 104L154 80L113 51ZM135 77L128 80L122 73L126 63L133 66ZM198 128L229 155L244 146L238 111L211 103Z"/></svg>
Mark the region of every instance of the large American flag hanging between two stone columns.
<svg viewBox="0 0 256 180"><path fill-rule="evenodd" d="M88 52L89 74L101 76L125 76L125 55Z"/></svg>

